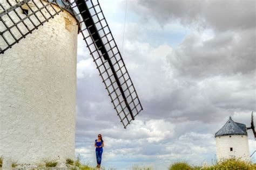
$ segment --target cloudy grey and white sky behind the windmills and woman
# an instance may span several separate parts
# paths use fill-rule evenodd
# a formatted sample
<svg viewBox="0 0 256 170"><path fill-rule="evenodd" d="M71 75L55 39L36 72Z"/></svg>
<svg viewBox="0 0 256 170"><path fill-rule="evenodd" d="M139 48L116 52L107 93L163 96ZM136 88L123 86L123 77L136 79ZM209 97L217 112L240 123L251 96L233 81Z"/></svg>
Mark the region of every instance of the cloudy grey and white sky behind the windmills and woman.
<svg viewBox="0 0 256 170"><path fill-rule="evenodd" d="M125 22L126 1L101 0L144 110L123 129L79 35L76 153L83 161L96 165L102 133L106 168L211 164L214 133L229 116L248 126L256 111L255 3L127 0ZM252 153L251 131L248 137Z"/></svg>

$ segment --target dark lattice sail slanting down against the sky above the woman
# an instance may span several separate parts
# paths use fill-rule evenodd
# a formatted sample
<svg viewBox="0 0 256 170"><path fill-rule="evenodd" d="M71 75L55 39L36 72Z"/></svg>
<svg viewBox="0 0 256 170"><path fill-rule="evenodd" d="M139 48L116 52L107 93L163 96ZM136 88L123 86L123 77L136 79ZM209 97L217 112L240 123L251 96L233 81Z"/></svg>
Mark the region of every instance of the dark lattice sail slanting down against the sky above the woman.
<svg viewBox="0 0 256 170"><path fill-rule="evenodd" d="M98 1L76 1L80 30L124 128L143 110Z"/></svg>

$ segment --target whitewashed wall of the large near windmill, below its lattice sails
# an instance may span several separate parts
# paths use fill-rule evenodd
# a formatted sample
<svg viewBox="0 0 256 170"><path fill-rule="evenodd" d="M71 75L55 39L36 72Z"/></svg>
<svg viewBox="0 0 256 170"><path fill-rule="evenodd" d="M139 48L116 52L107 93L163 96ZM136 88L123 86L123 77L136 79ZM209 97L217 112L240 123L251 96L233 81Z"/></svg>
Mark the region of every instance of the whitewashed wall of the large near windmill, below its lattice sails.
<svg viewBox="0 0 256 170"><path fill-rule="evenodd" d="M64 11L0 54L3 158L19 164L75 158L77 33Z"/></svg>

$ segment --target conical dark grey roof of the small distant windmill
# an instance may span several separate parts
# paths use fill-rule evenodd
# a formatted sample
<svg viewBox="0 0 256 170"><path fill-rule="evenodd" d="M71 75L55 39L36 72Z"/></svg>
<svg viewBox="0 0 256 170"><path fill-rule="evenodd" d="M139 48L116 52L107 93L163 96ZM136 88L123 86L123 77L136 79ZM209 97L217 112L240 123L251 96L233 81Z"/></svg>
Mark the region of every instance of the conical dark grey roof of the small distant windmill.
<svg viewBox="0 0 256 170"><path fill-rule="evenodd" d="M226 124L217 132L215 133L215 137L218 136L226 136L226 135L246 135L247 136L247 131L246 131L246 125L242 123L237 123L230 119L226 122Z"/></svg>

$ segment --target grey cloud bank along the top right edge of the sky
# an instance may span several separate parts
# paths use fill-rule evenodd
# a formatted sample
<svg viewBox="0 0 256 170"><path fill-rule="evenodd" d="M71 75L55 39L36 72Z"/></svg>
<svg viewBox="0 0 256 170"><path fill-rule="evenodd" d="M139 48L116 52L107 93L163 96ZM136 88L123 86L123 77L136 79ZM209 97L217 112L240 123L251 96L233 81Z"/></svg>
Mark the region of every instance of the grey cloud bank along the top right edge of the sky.
<svg viewBox="0 0 256 170"><path fill-rule="evenodd" d="M184 25L210 26L218 31L255 27L255 1L132 1L140 15L161 24L180 20Z"/></svg>

